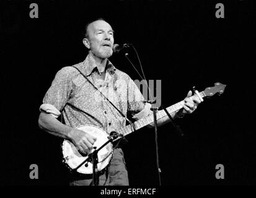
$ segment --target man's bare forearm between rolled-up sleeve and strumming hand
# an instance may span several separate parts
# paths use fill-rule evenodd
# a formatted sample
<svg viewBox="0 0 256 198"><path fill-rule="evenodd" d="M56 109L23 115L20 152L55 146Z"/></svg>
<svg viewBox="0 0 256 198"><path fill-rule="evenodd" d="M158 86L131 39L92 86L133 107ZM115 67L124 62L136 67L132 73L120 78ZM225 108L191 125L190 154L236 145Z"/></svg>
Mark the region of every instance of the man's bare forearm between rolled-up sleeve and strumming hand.
<svg viewBox="0 0 256 198"><path fill-rule="evenodd" d="M41 112L38 118L38 125L40 129L46 131L54 136L70 139L70 132L73 130L65 124L62 124L58 119L54 118L51 114Z"/></svg>

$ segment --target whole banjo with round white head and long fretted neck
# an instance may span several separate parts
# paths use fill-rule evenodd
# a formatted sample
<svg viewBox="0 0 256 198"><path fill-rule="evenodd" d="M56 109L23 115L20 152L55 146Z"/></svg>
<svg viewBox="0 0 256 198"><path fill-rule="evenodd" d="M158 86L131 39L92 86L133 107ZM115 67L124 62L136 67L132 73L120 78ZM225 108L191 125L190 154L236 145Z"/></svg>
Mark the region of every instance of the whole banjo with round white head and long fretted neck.
<svg viewBox="0 0 256 198"><path fill-rule="evenodd" d="M200 98L201 101L203 101L204 97L212 97L216 93L218 93L218 95L221 95L222 93L224 93L225 87L226 85L216 82L214 84L214 87L208 87L202 92L196 91L195 95L191 96L190 98L198 97ZM166 108L166 110L168 111L169 114L172 114L175 111L180 110L183 107L184 103L185 102L182 100L179 103L169 106L168 108ZM164 116L167 116L165 111L157 111L157 119L161 119ZM139 119L138 121L135 121L132 124L129 124L125 127L121 127L118 133L123 136L126 136L131 132L141 129L142 127L147 126L152 122L154 122L154 118L153 118L153 115L151 114L149 116L144 117L143 119ZM94 148L95 147L100 148L109 139L108 138L109 134L107 134L107 132L105 132L103 129L97 126L84 124L82 126L76 127L76 129L87 132L90 135L97 137L97 140L94 142ZM117 139L120 139L120 137L118 137ZM115 139L114 141L116 141L117 139ZM82 155L82 153L80 153L76 149L75 145L69 140L65 139L63 141L63 144L61 145L61 149L63 153L63 163L68 166L69 170L76 169L77 166L79 166L84 160L86 160L86 158L88 158ZM92 149L92 152L93 151L94 149ZM113 156L113 145L112 143L108 143L98 152L99 161L97 163L97 169L99 171L104 170L104 168L106 168L107 165L112 160L112 156ZM76 171L82 174L92 174L93 172L92 168L93 168L92 163L88 162L86 166L85 165L80 166L79 168L76 169Z"/></svg>

